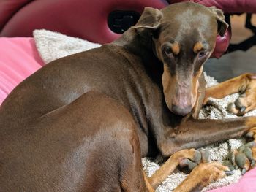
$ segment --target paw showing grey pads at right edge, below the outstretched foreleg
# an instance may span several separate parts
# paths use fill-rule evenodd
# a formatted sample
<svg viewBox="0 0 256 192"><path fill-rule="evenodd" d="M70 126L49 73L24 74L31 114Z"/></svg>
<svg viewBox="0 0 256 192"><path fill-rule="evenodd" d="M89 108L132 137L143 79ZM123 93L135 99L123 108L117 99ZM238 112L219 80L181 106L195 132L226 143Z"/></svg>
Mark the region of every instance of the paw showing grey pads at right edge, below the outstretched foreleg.
<svg viewBox="0 0 256 192"><path fill-rule="evenodd" d="M250 132L248 134L251 134ZM255 136L254 136L255 137ZM238 150L235 150L235 164L242 169L241 174L255 167L256 164L256 142L248 142Z"/></svg>

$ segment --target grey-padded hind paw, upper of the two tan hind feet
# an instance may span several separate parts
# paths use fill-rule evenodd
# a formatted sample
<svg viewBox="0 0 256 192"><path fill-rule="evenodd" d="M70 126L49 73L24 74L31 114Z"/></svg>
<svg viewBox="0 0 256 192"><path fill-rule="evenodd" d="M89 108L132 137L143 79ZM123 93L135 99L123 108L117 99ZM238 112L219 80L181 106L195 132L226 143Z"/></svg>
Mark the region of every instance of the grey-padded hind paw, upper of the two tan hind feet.
<svg viewBox="0 0 256 192"><path fill-rule="evenodd" d="M208 150L195 150L191 149L194 154L193 155L184 155L183 158L179 160L179 166L187 168L192 171L195 167L200 163L207 163L209 159L209 152ZM186 151L184 151L186 154ZM191 153L191 152L190 152ZM187 153L188 154L188 153Z"/></svg>

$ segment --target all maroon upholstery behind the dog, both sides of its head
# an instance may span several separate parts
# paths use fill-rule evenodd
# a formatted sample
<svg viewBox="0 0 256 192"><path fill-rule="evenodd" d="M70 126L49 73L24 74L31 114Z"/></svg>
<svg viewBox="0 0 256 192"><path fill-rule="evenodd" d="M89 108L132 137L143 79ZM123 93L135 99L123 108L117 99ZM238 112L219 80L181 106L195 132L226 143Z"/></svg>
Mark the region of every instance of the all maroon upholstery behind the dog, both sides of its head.
<svg viewBox="0 0 256 192"><path fill-rule="evenodd" d="M170 3L188 0L170 0ZM192 0L224 12L256 12L255 0ZM31 37L45 28L91 42L107 43L119 37L108 28L113 10L143 12L144 7L161 9L165 0L0 0L0 37ZM230 42L230 32L217 37L213 57L219 58Z"/></svg>

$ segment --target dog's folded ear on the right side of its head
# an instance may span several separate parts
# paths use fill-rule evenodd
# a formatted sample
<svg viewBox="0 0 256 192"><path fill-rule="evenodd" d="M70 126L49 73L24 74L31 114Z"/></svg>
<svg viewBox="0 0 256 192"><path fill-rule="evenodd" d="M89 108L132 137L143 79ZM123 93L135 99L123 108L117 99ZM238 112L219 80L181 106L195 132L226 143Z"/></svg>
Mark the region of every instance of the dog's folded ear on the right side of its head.
<svg viewBox="0 0 256 192"><path fill-rule="evenodd" d="M227 31L228 24L225 22L225 15L223 14L221 9L217 9L215 6L209 8L211 12L214 13L217 18L218 23L218 33L221 37L224 36L225 31Z"/></svg>

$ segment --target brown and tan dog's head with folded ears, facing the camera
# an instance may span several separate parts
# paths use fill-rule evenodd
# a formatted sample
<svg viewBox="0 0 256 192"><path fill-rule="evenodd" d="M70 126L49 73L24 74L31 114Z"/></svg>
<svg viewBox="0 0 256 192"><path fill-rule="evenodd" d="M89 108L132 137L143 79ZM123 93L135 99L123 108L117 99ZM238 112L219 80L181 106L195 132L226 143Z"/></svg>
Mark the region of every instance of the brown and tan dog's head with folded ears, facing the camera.
<svg viewBox="0 0 256 192"><path fill-rule="evenodd" d="M220 9L192 2L164 9L146 7L133 26L153 40L153 51L164 65L162 87L167 107L178 115L192 111L203 64L214 51L217 34L228 25Z"/></svg>

